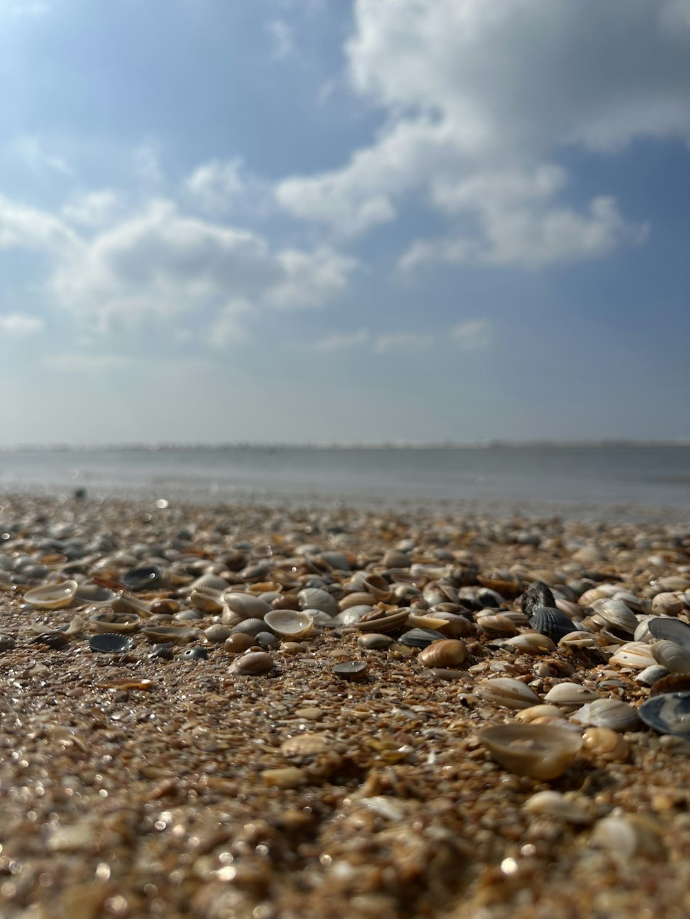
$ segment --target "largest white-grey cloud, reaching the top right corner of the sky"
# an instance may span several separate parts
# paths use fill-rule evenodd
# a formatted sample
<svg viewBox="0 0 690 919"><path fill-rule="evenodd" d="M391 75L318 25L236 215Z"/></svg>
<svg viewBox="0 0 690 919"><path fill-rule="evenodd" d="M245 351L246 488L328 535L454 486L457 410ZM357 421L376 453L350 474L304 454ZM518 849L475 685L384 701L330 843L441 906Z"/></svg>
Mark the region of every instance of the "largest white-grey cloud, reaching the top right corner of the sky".
<svg viewBox="0 0 690 919"><path fill-rule="evenodd" d="M571 0L357 0L354 16L351 85L385 126L342 168L279 183L283 208L352 235L422 190L433 209L477 221L433 244L441 258L417 244L407 267L541 267L643 237L605 195L558 201L568 175L553 160L569 144L690 135L686 0L610 0L595 14ZM535 240L521 244L523 232Z"/></svg>

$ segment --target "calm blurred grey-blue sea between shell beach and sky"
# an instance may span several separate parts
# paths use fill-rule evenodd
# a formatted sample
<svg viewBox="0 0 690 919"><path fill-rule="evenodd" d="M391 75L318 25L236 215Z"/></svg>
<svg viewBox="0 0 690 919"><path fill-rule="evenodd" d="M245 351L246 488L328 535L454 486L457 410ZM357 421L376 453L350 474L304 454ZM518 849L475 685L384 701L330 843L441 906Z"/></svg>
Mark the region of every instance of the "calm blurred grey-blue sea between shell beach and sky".
<svg viewBox="0 0 690 919"><path fill-rule="evenodd" d="M690 508L689 447L194 448L0 453L0 490L163 497Z"/></svg>

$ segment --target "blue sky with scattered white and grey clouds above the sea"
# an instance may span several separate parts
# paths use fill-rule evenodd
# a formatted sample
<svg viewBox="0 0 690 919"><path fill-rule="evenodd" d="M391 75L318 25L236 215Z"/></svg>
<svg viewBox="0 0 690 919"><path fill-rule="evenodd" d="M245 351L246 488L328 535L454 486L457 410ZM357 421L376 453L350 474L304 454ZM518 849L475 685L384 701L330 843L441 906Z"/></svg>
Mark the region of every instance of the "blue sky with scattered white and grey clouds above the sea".
<svg viewBox="0 0 690 919"><path fill-rule="evenodd" d="M0 0L0 446L690 436L690 0Z"/></svg>

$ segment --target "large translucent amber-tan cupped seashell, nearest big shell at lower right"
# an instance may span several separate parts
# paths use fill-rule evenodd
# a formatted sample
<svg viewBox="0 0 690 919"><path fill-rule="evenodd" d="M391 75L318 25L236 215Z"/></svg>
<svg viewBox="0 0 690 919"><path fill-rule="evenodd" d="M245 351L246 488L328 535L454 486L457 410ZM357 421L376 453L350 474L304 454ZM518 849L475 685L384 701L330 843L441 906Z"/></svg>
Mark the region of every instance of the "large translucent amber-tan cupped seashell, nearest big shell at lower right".
<svg viewBox="0 0 690 919"><path fill-rule="evenodd" d="M562 775L582 743L579 733L553 724L498 724L477 740L510 772L541 781Z"/></svg>

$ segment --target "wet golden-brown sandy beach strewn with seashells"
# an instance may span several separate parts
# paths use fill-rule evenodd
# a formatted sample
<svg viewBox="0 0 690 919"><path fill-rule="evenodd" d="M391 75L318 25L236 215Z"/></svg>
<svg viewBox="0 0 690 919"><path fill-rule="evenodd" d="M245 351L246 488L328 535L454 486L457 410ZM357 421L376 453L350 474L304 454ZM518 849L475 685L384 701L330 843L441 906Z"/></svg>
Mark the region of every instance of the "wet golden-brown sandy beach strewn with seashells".
<svg viewBox="0 0 690 919"><path fill-rule="evenodd" d="M6 919L690 911L690 743L638 717L690 651L634 640L690 623L682 508L0 505Z"/></svg>

